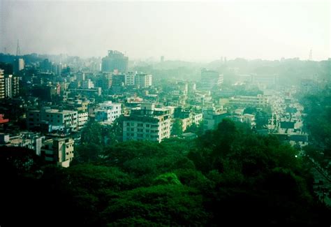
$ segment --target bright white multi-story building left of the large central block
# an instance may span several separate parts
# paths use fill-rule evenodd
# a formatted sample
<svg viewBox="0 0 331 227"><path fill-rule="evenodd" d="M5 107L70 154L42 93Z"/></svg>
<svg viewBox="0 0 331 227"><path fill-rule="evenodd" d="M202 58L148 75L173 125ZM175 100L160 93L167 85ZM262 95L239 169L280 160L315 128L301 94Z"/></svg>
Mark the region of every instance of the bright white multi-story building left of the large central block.
<svg viewBox="0 0 331 227"><path fill-rule="evenodd" d="M105 101L95 110L96 121L111 124L117 117L122 115L122 107L120 103L112 103Z"/></svg>

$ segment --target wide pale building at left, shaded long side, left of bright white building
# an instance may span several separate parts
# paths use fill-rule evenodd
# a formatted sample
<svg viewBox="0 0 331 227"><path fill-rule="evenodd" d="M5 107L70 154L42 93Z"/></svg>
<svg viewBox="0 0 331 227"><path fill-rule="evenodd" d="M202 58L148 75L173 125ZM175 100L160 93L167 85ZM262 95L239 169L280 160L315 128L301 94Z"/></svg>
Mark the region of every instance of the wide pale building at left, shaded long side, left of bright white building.
<svg viewBox="0 0 331 227"><path fill-rule="evenodd" d="M35 129L47 123L53 128L70 128L71 131L78 129L78 112L71 110L57 110L43 108L42 110L29 110L27 112L27 128Z"/></svg>

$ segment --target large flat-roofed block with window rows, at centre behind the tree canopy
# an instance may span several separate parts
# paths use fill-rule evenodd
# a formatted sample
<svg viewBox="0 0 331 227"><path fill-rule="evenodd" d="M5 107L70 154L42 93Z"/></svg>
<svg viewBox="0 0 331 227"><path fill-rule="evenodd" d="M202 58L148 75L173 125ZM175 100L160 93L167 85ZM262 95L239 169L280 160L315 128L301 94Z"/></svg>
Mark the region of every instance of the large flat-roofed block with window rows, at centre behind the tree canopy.
<svg viewBox="0 0 331 227"><path fill-rule="evenodd" d="M161 142L170 137L170 110L155 108L154 103L142 103L124 116L123 140Z"/></svg>

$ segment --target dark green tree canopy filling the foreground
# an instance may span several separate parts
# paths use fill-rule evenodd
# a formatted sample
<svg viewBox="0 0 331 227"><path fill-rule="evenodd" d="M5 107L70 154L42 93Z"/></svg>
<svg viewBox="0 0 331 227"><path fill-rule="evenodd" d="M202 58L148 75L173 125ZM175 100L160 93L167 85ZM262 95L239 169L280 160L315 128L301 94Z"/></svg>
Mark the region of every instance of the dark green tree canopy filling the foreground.
<svg viewBox="0 0 331 227"><path fill-rule="evenodd" d="M1 226L330 226L309 162L274 136L224 119L196 140L110 143L90 126L70 168L1 147Z"/></svg>

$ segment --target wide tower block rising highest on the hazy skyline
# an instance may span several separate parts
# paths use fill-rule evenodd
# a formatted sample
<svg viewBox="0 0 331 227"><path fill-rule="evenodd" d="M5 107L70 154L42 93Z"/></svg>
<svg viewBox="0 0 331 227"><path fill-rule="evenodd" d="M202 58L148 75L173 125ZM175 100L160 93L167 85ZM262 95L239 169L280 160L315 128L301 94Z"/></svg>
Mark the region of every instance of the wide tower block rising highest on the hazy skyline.
<svg viewBox="0 0 331 227"><path fill-rule="evenodd" d="M112 72L115 70L121 73L128 71L128 57L117 50L108 50L108 56L102 59L101 71Z"/></svg>

